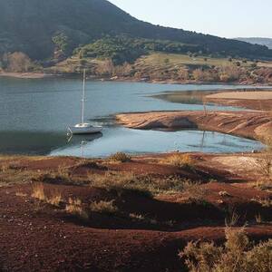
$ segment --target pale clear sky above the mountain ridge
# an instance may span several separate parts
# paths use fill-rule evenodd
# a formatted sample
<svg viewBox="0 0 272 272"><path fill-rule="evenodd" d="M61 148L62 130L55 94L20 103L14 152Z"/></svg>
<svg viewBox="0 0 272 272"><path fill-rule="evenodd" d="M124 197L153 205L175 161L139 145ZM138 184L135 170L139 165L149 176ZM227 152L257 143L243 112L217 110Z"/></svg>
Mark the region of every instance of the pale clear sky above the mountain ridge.
<svg viewBox="0 0 272 272"><path fill-rule="evenodd" d="M272 38L272 0L110 0L152 24L221 37Z"/></svg>

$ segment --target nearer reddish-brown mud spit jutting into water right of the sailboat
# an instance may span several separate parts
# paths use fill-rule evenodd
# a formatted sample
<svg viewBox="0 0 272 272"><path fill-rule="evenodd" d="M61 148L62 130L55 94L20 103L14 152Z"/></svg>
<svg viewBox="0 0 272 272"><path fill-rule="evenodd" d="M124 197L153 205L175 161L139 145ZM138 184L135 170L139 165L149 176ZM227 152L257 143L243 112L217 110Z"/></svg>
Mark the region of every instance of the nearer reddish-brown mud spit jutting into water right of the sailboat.
<svg viewBox="0 0 272 272"><path fill-rule="evenodd" d="M118 114L125 127L139 130L198 129L218 131L250 139L272 133L272 117L267 112L143 112Z"/></svg>

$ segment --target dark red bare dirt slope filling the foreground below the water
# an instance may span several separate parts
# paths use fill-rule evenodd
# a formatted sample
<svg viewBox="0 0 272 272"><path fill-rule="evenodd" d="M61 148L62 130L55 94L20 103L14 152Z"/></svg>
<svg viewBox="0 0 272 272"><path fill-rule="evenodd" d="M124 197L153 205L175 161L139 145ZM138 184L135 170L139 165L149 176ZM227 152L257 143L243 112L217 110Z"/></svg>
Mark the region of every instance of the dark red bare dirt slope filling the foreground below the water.
<svg viewBox="0 0 272 272"><path fill-rule="evenodd" d="M231 161L241 160L239 155L195 153L191 154L195 169L180 170L164 163L169 156L147 155L123 163L77 158L2 158L0 270L182 271L179 250L189 240L222 241L228 209L239 214L239 224L248 222L250 238L272 238L272 225L255 220L258 213L267 221L272 215L271 208L252 200L272 198L270 192L253 186L259 179L257 168L253 170L241 163L235 170ZM258 154L245 154L244 158L254 160L254 156ZM69 171L69 176L63 169ZM59 178L43 179L48 171ZM188 201L182 191L176 191L150 198L128 189L92 186L94 175L112 171L139 177L144 174L149 180L169 180L173 176L180 182L198 180L205 196L201 201ZM44 183L46 195L60 193L62 203L53 206L34 199L37 181ZM221 196L222 191L228 195ZM79 219L65 212L69 198L81 199L84 207L92 201L114 199L118 213L92 212L88 220ZM137 221L130 218L131 214L152 220Z"/></svg>

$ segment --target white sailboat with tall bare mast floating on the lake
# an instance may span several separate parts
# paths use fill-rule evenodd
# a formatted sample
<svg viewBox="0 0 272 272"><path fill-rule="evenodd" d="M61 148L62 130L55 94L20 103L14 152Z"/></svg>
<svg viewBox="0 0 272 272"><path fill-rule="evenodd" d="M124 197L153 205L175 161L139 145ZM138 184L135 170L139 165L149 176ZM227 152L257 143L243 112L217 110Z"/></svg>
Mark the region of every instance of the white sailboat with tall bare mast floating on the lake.
<svg viewBox="0 0 272 272"><path fill-rule="evenodd" d="M68 127L69 134L94 134L102 131L101 126L92 126L91 123L84 121L85 110L85 82L86 82L86 70L83 70L83 99L82 99L82 120L80 123Z"/></svg>

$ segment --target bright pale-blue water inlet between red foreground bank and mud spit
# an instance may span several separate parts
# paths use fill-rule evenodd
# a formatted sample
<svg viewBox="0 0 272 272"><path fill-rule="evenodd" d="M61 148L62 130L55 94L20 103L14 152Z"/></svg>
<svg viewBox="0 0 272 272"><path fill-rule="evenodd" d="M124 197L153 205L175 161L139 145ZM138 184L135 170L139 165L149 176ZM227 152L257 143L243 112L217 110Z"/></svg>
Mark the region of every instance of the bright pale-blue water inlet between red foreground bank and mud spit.
<svg viewBox="0 0 272 272"><path fill-rule="evenodd" d="M50 155L107 157L122 151L131 154L169 151L238 152L260 149L257 141L210 131L137 131L105 127L103 135L74 137ZM89 140L89 141L88 141Z"/></svg>

